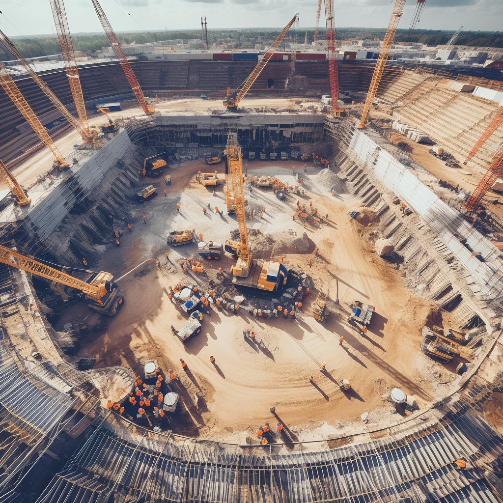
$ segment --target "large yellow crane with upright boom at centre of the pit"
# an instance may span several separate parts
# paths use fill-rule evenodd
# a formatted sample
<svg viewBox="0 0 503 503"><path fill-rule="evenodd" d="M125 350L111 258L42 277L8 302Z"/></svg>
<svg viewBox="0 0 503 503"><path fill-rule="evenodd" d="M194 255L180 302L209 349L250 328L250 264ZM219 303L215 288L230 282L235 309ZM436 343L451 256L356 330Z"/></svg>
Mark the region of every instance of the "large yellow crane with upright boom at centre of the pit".
<svg viewBox="0 0 503 503"><path fill-rule="evenodd" d="M244 212L243 174L241 168L241 148L237 142L237 133L229 133L225 148L226 169L232 182L232 193L236 205L236 219L239 228L239 241L227 240L225 251L237 257L231 267L232 283L236 287L258 288L272 292L278 285L286 284L288 270L283 264L253 260L248 247L246 215Z"/></svg>

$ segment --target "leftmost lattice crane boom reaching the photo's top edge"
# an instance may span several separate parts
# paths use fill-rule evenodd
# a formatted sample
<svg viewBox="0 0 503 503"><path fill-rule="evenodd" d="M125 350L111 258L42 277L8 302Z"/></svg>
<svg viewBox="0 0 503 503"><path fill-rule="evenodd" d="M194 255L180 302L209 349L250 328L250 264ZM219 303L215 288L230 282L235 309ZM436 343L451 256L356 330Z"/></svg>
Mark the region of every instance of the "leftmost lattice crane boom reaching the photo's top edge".
<svg viewBox="0 0 503 503"><path fill-rule="evenodd" d="M61 47L61 54L63 55L64 65L66 67L66 76L70 84L71 95L77 108L78 118L82 129L89 136L88 117L86 115L86 105L82 95L82 88L80 86L80 78L78 77L77 60L75 59L75 52L73 51L73 44L71 43L70 30L68 28L68 21L66 19L66 12L64 10L63 0L49 0L51 4L52 16L56 25L56 32L58 34L59 46Z"/></svg>

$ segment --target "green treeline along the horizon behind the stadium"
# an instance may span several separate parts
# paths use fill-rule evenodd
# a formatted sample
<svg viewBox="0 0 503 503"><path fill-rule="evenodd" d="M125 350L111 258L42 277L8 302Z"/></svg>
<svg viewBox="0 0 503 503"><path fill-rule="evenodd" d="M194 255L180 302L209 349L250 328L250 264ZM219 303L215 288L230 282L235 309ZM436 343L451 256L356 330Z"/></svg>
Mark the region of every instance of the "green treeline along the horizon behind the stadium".
<svg viewBox="0 0 503 503"><path fill-rule="evenodd" d="M304 42L304 36L307 31L308 41L312 42L314 30L299 28L297 33L291 31L286 41ZM211 43L226 42L235 48L253 49L255 44L260 41L268 41L276 38L280 33L277 31L259 31L259 30L209 30L208 41ZM342 28L337 31L336 37L338 40L349 38L362 38L364 40L374 40L376 37L383 39L385 30L369 29L369 28ZM408 35L407 29L397 30L396 42L422 42L428 45L446 44L452 37L453 32L445 32L440 30L414 30L411 35ZM187 40L201 38L201 30L188 31L161 31L153 33L118 33L117 36L122 43L131 44L148 44L152 42L161 42L163 40ZM319 39L324 38L325 31L319 30ZM54 36L47 37L13 37L13 42L19 52L25 58L33 58L40 56L48 56L60 52L59 42ZM105 34L90 33L72 35L73 48L75 51L93 54L102 47L109 47L110 42ZM499 32L461 32L456 45L468 45L478 47L501 47L503 48L503 34ZM198 44L196 44L196 47ZM0 45L0 60L8 61L13 59L13 56L3 46Z"/></svg>

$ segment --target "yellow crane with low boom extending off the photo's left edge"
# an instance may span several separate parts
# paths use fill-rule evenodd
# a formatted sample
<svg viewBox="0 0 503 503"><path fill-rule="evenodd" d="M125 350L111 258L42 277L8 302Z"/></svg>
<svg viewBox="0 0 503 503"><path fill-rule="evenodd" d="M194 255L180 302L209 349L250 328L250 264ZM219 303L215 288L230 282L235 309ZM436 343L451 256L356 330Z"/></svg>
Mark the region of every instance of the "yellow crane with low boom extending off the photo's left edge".
<svg viewBox="0 0 503 503"><path fill-rule="evenodd" d="M82 281L3 245L0 245L0 263L64 285L67 295L73 295L74 290L80 291L82 294L78 295L90 301L89 307L108 316L115 316L124 303L124 290L114 283L112 274L104 271L97 273L87 269L65 268L92 274L90 281Z"/></svg>

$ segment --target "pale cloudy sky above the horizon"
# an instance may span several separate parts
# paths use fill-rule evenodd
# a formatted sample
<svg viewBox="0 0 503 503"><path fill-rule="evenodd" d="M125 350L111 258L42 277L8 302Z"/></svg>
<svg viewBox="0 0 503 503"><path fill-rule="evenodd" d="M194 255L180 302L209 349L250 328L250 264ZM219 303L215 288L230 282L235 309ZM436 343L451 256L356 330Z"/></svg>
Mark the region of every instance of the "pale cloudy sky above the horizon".
<svg viewBox="0 0 503 503"><path fill-rule="evenodd" d="M395 0L332 0L336 27L386 28ZM100 0L115 31L285 26L314 27L317 0ZM416 0L407 0L399 28L408 28ZM103 32L91 0L65 0L70 32ZM8 36L56 33L49 0L0 1L0 29ZM323 16L323 11L322 11ZM141 25L141 26L140 26ZM503 0L427 0L418 28L503 30ZM320 27L324 26L323 17ZM21 33L20 33L21 32Z"/></svg>

